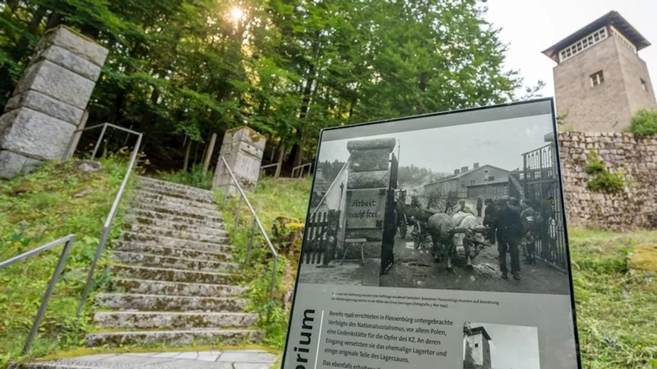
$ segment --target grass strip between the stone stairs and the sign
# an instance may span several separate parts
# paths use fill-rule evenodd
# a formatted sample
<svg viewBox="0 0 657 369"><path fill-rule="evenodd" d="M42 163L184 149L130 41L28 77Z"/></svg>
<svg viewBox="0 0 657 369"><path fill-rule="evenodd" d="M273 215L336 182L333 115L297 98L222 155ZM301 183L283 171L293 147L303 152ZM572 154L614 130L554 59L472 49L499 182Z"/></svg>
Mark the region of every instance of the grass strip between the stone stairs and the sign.
<svg viewBox="0 0 657 369"><path fill-rule="evenodd" d="M258 181L256 189L247 193L251 205L258 214L258 219L265 228L265 232L271 238L272 226L277 217L290 217L304 219L308 206L311 179L272 179L265 177ZM223 194L217 191L217 201L221 204ZM245 265L248 253L248 245L251 235L252 217L246 206L242 206L240 225L238 231L235 228L235 213L238 207L237 196L230 198L227 202L223 215L226 228L231 234L231 241L235 248L237 260ZM250 292L247 297L252 299L253 304L250 311L260 315L260 327L266 332L265 343L276 349L282 349L287 334L288 314L281 307L281 280L287 268L295 268L290 261L279 252L279 263L277 267L277 287L275 292L276 303L269 303L271 291L271 253L267 248L260 232L256 231L254 248L251 262L244 268L246 280L249 280ZM279 248L279 245L275 244ZM280 251L280 250L277 250ZM269 320L267 313L271 311Z"/></svg>

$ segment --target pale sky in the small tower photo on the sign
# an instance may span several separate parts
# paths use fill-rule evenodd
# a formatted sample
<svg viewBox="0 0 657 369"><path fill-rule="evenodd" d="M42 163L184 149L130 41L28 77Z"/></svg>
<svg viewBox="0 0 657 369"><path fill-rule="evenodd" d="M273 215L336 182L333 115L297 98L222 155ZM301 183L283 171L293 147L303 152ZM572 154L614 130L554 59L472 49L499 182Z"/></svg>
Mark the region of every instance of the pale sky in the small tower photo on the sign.
<svg viewBox="0 0 657 369"><path fill-rule="evenodd" d="M491 366L495 369L540 369L536 327L472 323L491 336Z"/></svg>

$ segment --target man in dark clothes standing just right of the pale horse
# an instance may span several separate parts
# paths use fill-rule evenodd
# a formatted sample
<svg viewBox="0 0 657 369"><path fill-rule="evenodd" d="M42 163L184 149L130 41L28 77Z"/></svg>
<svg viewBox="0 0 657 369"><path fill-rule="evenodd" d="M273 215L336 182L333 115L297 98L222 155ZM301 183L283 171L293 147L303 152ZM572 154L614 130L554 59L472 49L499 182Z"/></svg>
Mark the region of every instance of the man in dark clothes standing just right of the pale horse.
<svg viewBox="0 0 657 369"><path fill-rule="evenodd" d="M507 251L511 256L511 275L514 279L520 280L520 250L518 244L522 238L522 223L520 222L520 211L510 206L509 196L500 199L500 209L497 214L498 244L499 252L499 269L502 272L502 278L507 279Z"/></svg>

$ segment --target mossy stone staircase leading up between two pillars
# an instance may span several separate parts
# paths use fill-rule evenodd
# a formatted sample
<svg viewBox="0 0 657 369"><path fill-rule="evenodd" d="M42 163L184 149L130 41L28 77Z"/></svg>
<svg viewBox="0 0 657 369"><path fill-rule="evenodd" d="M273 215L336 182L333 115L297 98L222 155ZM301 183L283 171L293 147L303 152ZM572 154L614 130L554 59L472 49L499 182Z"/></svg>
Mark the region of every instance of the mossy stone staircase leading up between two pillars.
<svg viewBox="0 0 657 369"><path fill-rule="evenodd" d="M87 346L258 342L212 192L139 177Z"/></svg>

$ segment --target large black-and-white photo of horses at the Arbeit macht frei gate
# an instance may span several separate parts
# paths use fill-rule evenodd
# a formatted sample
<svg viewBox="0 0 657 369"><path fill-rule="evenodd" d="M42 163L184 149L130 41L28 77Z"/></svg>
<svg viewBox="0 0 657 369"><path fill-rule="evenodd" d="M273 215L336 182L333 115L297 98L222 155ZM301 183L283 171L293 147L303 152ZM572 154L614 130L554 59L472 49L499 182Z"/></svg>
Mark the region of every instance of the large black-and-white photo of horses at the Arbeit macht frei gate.
<svg viewBox="0 0 657 369"><path fill-rule="evenodd" d="M412 121L321 142L299 282L570 293L550 116Z"/></svg>

